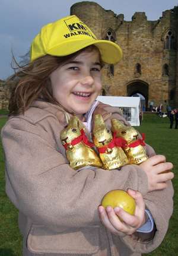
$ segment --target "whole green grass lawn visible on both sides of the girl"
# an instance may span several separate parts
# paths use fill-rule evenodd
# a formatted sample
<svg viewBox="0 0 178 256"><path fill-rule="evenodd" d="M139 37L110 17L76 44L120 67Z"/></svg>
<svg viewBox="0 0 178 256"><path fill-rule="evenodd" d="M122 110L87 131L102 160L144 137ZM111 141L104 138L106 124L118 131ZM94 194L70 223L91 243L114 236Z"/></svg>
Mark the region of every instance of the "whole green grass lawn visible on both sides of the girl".
<svg viewBox="0 0 178 256"><path fill-rule="evenodd" d="M1 112L0 112L1 113ZM7 118L0 118L0 129ZM144 114L141 127L136 127L146 135L145 141L154 147L157 154L164 154L167 161L174 165L174 213L170 220L169 230L162 244L154 252L144 254L149 256L176 256L178 251L178 181L176 172L178 129L169 129L169 119L159 118L155 114ZM21 235L17 226L17 210L5 195L4 159L0 144L0 255L21 256Z"/></svg>

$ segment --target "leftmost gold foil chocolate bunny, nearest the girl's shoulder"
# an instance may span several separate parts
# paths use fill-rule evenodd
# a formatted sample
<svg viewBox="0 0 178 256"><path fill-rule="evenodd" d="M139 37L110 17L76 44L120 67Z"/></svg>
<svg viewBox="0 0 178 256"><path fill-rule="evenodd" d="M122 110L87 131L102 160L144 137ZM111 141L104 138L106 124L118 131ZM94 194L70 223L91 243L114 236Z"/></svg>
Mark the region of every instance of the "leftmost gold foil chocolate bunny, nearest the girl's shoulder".
<svg viewBox="0 0 178 256"><path fill-rule="evenodd" d="M69 165L77 170L84 166L102 167L100 157L88 141L82 124L77 116L69 120L68 127L61 132L61 142L66 149L66 157Z"/></svg>

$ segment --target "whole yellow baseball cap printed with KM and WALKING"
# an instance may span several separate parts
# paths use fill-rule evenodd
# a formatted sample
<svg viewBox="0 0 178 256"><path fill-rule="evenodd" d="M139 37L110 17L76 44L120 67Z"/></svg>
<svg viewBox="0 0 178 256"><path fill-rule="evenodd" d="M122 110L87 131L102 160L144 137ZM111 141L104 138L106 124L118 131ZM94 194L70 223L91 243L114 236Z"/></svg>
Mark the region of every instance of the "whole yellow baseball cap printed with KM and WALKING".
<svg viewBox="0 0 178 256"><path fill-rule="evenodd" d="M34 61L46 54L66 56L87 46L95 45L101 59L116 64L122 58L122 49L109 40L98 40L77 16L71 15L43 26L31 43L30 59Z"/></svg>

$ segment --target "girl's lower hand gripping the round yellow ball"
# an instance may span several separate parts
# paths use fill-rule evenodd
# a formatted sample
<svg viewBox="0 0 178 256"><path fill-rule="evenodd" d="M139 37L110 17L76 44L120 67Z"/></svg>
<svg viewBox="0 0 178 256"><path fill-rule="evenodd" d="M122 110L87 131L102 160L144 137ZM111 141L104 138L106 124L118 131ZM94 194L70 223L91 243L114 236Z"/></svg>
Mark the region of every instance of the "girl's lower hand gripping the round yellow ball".
<svg viewBox="0 0 178 256"><path fill-rule="evenodd" d="M128 194L135 199L135 215L131 215L120 207L98 207L98 214L103 225L115 235L132 235L145 223L145 203L140 192L128 189ZM118 218L122 219L122 221Z"/></svg>

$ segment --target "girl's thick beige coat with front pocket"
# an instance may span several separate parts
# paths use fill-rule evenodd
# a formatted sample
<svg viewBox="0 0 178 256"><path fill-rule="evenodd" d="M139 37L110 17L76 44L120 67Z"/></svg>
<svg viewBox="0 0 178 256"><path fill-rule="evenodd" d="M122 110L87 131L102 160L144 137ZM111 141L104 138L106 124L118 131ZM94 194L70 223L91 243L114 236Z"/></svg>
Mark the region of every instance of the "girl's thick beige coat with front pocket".
<svg viewBox="0 0 178 256"><path fill-rule="evenodd" d="M105 109L105 110L104 110ZM123 119L117 108L99 105L106 123ZM24 254L138 256L161 244L173 211L173 188L148 193L147 175L136 165L122 170L73 170L60 132L66 125L58 106L37 101L25 115L10 118L2 129L7 195L19 210ZM149 156L154 154L147 146ZM136 189L144 196L157 231L119 237L101 224L97 207L112 189Z"/></svg>

